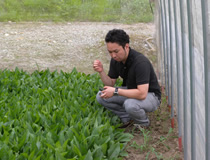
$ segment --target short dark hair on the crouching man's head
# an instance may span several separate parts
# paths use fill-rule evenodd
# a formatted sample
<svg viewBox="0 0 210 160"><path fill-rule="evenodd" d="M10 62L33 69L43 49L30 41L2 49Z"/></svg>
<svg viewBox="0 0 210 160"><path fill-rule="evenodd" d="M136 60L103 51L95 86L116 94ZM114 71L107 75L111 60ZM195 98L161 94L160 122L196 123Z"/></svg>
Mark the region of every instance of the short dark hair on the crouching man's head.
<svg viewBox="0 0 210 160"><path fill-rule="evenodd" d="M122 30L122 29L113 29L110 30L106 37L105 37L105 42L106 43L117 43L120 46L122 46L123 48L125 47L126 43L129 43L129 36L127 35L127 33Z"/></svg>

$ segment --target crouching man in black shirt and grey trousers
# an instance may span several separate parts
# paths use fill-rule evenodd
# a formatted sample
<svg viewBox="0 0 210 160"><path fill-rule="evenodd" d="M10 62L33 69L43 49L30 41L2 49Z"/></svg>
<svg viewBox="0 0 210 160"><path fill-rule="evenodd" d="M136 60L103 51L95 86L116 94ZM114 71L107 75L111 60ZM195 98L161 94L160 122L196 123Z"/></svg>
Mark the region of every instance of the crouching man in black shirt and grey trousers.
<svg viewBox="0 0 210 160"><path fill-rule="evenodd" d="M97 101L119 116L120 128L131 124L141 128L150 121L146 112L155 111L161 100L160 86L153 66L143 54L129 46L129 35L124 30L110 30L105 42L111 56L108 75L99 60L93 63L93 69L99 73L104 88L99 91ZM114 87L118 77L123 79L120 87Z"/></svg>

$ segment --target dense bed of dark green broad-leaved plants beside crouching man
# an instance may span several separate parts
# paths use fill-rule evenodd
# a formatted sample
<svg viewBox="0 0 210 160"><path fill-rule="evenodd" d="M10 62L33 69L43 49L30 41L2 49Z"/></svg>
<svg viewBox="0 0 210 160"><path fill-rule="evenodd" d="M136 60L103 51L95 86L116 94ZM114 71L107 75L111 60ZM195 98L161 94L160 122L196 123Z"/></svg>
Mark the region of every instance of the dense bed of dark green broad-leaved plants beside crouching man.
<svg viewBox="0 0 210 160"><path fill-rule="evenodd" d="M97 74L0 70L1 160L120 159L132 135L95 100Z"/></svg>

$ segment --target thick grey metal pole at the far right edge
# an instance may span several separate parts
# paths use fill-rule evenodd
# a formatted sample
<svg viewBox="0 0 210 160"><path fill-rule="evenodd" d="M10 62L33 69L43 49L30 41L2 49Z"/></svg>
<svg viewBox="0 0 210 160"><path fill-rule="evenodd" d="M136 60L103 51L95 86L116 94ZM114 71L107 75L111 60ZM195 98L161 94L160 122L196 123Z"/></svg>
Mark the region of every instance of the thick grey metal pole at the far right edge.
<svg viewBox="0 0 210 160"><path fill-rule="evenodd" d="M206 160L210 159L210 46L208 45L210 41L210 30L209 25L209 15L208 3L206 0L201 0L202 7L202 23L203 23L203 51L204 51L204 69L205 69L205 119L206 119Z"/></svg>

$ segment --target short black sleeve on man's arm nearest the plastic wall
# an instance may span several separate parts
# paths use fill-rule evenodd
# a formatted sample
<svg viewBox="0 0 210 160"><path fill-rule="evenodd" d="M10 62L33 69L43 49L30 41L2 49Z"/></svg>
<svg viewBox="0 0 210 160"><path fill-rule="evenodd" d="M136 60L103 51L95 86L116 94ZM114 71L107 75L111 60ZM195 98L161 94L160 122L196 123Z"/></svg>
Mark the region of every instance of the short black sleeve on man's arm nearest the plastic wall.
<svg viewBox="0 0 210 160"><path fill-rule="evenodd" d="M136 73L136 84L147 84L150 80L150 64L149 62L141 62L136 64L135 67L135 73Z"/></svg>

